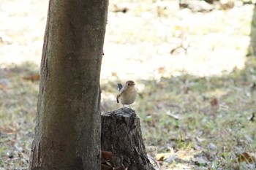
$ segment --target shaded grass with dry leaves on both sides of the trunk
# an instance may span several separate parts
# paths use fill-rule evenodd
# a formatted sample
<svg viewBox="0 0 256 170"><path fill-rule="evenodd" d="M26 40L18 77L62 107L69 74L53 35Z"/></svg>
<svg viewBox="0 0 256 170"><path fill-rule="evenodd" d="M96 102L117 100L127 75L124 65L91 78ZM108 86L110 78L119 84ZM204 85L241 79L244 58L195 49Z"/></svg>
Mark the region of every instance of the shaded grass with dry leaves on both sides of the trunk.
<svg viewBox="0 0 256 170"><path fill-rule="evenodd" d="M195 77L184 74L160 80L138 80L139 98L132 106L140 117L146 146L158 152L201 152L206 164L188 161L195 167L229 169L242 152L255 153L255 121L247 117L255 112L251 85L255 81L255 58L248 58L244 70L219 77ZM0 167L26 169L34 133L38 82L23 80L38 74L31 63L1 69ZM102 84L102 104L108 111L116 105L116 82ZM105 95L108 94L108 95ZM214 150L209 147L214 146ZM196 156L196 155L192 155ZM180 163L163 163L166 169ZM194 168L193 168L194 167ZM214 168L215 167L215 168ZM241 168L242 169L242 168Z"/></svg>

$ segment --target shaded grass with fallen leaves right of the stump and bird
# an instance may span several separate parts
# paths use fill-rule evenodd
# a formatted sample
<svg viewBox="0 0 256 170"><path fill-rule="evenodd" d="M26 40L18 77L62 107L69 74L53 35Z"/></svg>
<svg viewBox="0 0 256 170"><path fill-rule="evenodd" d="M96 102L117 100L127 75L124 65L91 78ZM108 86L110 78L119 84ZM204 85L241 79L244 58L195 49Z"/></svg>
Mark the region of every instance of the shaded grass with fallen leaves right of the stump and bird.
<svg viewBox="0 0 256 170"><path fill-rule="evenodd" d="M170 148L202 152L207 163L200 165L201 169L249 169L244 168L246 162L238 161L238 155L256 153L256 124L248 119L255 112L255 69L252 57L244 70L234 69L219 77L184 74L138 80L136 83L145 88L133 107L140 117L146 145L157 146L159 152L169 152ZM111 89L115 89L113 84ZM110 88L106 87L102 85L104 91ZM190 163L191 169L198 166ZM170 164L165 167L170 168Z"/></svg>

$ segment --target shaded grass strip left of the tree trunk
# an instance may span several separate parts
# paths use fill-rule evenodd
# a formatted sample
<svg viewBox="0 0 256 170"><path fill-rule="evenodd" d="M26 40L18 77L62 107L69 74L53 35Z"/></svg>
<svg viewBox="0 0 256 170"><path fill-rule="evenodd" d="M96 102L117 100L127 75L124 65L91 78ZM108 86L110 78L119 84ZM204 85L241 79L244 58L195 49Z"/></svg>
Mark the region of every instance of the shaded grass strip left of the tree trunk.
<svg viewBox="0 0 256 170"><path fill-rule="evenodd" d="M38 74L38 69L31 63L1 69L0 80L8 84L0 84L0 167L3 169L28 166L38 83L27 82L23 77Z"/></svg>

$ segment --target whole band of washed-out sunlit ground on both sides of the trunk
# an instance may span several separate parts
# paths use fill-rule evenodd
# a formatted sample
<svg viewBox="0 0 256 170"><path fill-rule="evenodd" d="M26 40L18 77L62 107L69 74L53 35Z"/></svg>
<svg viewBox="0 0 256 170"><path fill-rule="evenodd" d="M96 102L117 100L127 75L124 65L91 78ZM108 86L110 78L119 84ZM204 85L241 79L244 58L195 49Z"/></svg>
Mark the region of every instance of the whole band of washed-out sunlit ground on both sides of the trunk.
<svg viewBox="0 0 256 170"><path fill-rule="evenodd" d="M3 2L0 63L39 64L48 1ZM114 5L127 7L128 12L113 12ZM159 17L159 7L170 10ZM244 68L252 6L197 13L178 9L178 1L151 4L113 0L109 8L102 80L154 79L184 73L203 77Z"/></svg>

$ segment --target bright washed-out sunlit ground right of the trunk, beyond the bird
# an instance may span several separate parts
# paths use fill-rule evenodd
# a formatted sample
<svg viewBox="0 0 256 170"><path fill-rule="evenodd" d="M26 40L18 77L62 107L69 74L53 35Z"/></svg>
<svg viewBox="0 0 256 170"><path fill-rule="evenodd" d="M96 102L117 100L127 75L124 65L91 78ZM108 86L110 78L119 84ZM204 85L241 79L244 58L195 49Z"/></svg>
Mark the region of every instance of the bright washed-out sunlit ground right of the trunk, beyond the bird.
<svg viewBox="0 0 256 170"><path fill-rule="evenodd" d="M195 13L179 10L178 1L163 3L173 11L161 18L152 9L157 4L141 11L125 2L127 13L109 12L102 79L204 77L244 68L253 6Z"/></svg>

